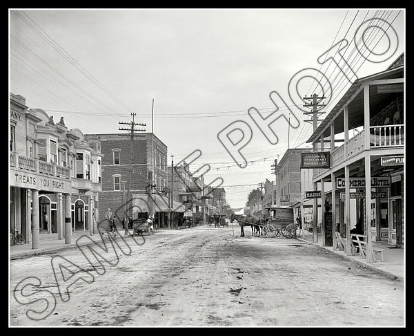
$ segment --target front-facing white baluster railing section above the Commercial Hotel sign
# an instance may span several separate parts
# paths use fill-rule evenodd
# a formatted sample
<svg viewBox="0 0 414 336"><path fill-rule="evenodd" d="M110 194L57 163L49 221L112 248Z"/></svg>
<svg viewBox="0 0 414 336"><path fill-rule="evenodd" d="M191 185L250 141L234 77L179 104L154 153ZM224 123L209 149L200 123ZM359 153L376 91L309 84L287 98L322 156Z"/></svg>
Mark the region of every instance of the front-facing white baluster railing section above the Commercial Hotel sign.
<svg viewBox="0 0 414 336"><path fill-rule="evenodd" d="M404 124L371 126L370 147L395 147L404 145Z"/></svg>

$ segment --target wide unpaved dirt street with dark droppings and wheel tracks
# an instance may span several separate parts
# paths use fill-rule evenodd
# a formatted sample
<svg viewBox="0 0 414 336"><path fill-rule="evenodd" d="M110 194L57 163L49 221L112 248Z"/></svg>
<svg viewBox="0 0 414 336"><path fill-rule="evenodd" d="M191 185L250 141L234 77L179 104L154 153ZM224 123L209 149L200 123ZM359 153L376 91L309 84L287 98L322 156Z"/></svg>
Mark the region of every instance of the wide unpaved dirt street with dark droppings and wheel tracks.
<svg viewBox="0 0 414 336"><path fill-rule="evenodd" d="M10 325L404 326L403 283L311 243L239 232L238 226L234 236L231 226L204 226L160 230L143 245L129 238L130 254L117 265L103 264L101 275L77 248L59 252L94 277L70 286L66 302L50 263L56 254L12 260ZM37 277L39 289L56 298L55 309L39 321L26 312L40 312L45 301L14 299L26 277Z"/></svg>

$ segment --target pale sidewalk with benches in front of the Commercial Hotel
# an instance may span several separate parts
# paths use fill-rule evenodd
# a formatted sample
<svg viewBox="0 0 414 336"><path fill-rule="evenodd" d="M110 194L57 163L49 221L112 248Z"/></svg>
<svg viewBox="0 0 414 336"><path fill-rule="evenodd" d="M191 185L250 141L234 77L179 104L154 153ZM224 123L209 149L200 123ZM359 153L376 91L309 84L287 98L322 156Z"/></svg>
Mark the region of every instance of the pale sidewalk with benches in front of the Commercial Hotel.
<svg viewBox="0 0 414 336"><path fill-rule="evenodd" d="M299 237L298 239L301 241L306 241L308 243L313 243L313 234L306 231L304 232L303 236ZM318 245L320 248L324 248L335 254L339 254L344 258L350 259L361 267L369 268L374 272L381 273L390 279L404 281L404 248L395 248L394 245L389 245L385 242L374 241L373 247L382 248L384 250L384 261L366 263L366 259L361 258L359 255L347 256L346 252L344 251L334 251L332 246L322 246L321 234L318 234L317 243L313 244Z"/></svg>

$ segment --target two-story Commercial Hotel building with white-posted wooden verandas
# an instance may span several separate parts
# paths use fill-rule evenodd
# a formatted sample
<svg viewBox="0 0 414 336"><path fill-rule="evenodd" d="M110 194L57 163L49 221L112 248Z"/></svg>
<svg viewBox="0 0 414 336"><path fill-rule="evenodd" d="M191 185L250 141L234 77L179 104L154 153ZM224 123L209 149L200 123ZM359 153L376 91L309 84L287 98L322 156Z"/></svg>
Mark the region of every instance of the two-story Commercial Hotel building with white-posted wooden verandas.
<svg viewBox="0 0 414 336"><path fill-rule="evenodd" d="M336 247L339 223L347 254L351 207L357 211L355 230L366 236L368 252L372 241L404 245L403 60L400 55L386 70L355 80L308 139L315 151L330 153L330 167L313 174L315 190L319 185L324 195L324 183L332 186L321 204L322 243L332 236ZM335 147L339 138L344 143ZM324 148L326 142L330 149ZM326 235L327 230L333 232ZM368 262L370 258L368 253Z"/></svg>

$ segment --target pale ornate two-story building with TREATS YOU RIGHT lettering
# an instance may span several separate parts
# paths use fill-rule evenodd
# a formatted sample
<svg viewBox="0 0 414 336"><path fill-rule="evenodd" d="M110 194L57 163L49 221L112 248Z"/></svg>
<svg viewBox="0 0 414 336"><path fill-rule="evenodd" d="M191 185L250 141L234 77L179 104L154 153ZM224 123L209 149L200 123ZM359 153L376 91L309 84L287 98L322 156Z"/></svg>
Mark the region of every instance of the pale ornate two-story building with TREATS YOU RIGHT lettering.
<svg viewBox="0 0 414 336"><path fill-rule="evenodd" d="M101 158L98 140L68 129L26 98L10 94L10 231L39 247L44 239L96 232Z"/></svg>

